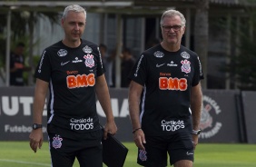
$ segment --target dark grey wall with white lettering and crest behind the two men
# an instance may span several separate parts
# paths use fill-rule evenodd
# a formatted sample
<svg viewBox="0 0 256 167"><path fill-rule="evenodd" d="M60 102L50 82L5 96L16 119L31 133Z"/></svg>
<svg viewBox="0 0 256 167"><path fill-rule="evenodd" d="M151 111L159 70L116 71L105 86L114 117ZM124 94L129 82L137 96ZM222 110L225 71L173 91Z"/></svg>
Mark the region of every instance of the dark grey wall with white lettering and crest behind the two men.
<svg viewBox="0 0 256 167"><path fill-rule="evenodd" d="M128 90L110 89L116 137L132 142L132 125L128 111ZM203 90L200 142L256 143L253 103L256 92ZM0 87L0 141L27 141L32 131L34 87ZM97 113L105 123L103 109L97 102ZM44 105L44 140L46 134L46 104Z"/></svg>

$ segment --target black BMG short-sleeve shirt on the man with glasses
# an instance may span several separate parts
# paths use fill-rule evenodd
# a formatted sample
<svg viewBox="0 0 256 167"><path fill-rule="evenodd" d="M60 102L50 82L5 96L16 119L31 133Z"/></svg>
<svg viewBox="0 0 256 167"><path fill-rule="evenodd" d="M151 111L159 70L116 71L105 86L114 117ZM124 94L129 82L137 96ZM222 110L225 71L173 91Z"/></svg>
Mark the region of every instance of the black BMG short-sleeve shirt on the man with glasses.
<svg viewBox="0 0 256 167"><path fill-rule="evenodd" d="M185 124L180 123L182 120L189 120L191 88L203 74L197 54L184 46L177 52L168 52L158 44L141 54L129 78L143 85L143 132L161 135L175 132Z"/></svg>

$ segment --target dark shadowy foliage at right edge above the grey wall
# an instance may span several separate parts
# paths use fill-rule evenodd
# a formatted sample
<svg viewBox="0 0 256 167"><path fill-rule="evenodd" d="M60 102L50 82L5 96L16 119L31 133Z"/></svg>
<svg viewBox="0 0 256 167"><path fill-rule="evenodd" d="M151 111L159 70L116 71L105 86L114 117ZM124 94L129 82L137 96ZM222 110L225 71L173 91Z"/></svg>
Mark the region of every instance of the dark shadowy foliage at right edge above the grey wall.
<svg viewBox="0 0 256 167"><path fill-rule="evenodd" d="M239 36L233 48L238 49L238 54L231 55L231 63L227 70L232 74L231 80L238 83L240 90L256 91L256 12L248 11L248 14L250 18L241 19L239 31L234 28L235 23L231 26L232 36Z"/></svg>

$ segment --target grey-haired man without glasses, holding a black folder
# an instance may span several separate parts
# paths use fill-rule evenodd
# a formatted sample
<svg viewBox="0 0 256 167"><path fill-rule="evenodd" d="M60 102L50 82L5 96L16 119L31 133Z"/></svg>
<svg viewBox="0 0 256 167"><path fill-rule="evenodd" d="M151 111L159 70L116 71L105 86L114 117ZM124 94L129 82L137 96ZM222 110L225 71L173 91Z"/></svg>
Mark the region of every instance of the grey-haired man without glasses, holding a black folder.
<svg viewBox="0 0 256 167"><path fill-rule="evenodd" d="M35 71L34 130L30 147L42 146L42 114L48 89L47 133L53 167L102 167L102 137L115 134L110 95L99 47L81 39L86 12L79 5L64 9L64 39L46 49ZM96 93L96 94L95 94ZM102 133L96 112L96 96L106 115Z"/></svg>

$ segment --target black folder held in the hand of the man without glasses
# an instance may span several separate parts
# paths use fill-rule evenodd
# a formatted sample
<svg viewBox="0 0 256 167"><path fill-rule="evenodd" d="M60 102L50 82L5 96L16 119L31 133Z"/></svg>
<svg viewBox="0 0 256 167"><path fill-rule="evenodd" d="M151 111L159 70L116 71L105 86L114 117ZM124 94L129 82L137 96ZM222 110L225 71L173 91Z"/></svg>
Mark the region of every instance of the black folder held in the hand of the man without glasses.
<svg viewBox="0 0 256 167"><path fill-rule="evenodd" d="M113 135L103 139L103 163L108 167L123 167L128 149Z"/></svg>

